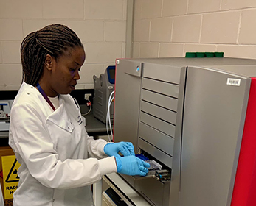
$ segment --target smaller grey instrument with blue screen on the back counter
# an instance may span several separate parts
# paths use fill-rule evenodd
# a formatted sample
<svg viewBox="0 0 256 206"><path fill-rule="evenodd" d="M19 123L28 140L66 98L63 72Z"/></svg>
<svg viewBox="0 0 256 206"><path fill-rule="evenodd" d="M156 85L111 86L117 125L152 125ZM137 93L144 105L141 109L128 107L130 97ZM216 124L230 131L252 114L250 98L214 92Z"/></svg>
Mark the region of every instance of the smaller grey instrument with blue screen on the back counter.
<svg viewBox="0 0 256 206"><path fill-rule="evenodd" d="M105 69L100 77L93 76L94 79L94 104L92 107L93 115L104 124L106 123L108 113L108 101L111 93L114 91L115 66L110 65ZM110 102L111 103L111 102ZM114 116L114 104L109 104L109 115L111 121Z"/></svg>

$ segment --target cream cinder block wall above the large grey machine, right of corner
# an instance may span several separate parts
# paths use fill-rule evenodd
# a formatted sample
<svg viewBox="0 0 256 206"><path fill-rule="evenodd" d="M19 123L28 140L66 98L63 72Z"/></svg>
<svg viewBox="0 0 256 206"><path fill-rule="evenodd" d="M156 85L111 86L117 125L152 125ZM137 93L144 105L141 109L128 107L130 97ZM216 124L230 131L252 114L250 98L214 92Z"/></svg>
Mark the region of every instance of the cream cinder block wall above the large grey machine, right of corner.
<svg viewBox="0 0 256 206"><path fill-rule="evenodd" d="M133 57L224 51L256 59L255 0L134 0Z"/></svg>

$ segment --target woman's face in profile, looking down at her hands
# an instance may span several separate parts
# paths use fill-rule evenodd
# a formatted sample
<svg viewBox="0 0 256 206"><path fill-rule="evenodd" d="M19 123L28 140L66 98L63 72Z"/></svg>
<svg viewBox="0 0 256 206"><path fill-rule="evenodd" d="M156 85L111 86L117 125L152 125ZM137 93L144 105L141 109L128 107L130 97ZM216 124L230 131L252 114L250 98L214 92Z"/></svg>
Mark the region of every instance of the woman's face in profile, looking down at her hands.
<svg viewBox="0 0 256 206"><path fill-rule="evenodd" d="M80 79L79 71L85 59L86 54L83 48L76 46L53 60L50 85L56 95L68 94L75 90L77 80Z"/></svg>

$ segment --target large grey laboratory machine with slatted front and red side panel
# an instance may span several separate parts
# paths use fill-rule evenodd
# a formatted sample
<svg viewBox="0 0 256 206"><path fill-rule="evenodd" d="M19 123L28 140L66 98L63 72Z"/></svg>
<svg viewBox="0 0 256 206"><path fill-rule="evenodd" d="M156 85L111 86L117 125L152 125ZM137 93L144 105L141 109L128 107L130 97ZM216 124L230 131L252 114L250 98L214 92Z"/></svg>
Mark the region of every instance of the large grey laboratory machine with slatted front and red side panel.
<svg viewBox="0 0 256 206"><path fill-rule="evenodd" d="M168 176L122 177L151 205L256 205L254 77L256 60L117 60L114 142Z"/></svg>

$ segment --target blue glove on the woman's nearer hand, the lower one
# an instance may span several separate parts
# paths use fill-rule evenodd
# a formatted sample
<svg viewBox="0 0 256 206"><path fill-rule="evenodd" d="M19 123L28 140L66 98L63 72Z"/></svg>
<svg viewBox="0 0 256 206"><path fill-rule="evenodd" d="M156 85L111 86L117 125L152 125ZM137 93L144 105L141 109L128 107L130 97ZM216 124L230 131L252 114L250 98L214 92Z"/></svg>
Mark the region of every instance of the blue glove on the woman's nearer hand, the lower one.
<svg viewBox="0 0 256 206"><path fill-rule="evenodd" d="M135 156L120 157L116 156L117 172L128 175L145 176L150 167L149 163L140 160Z"/></svg>

